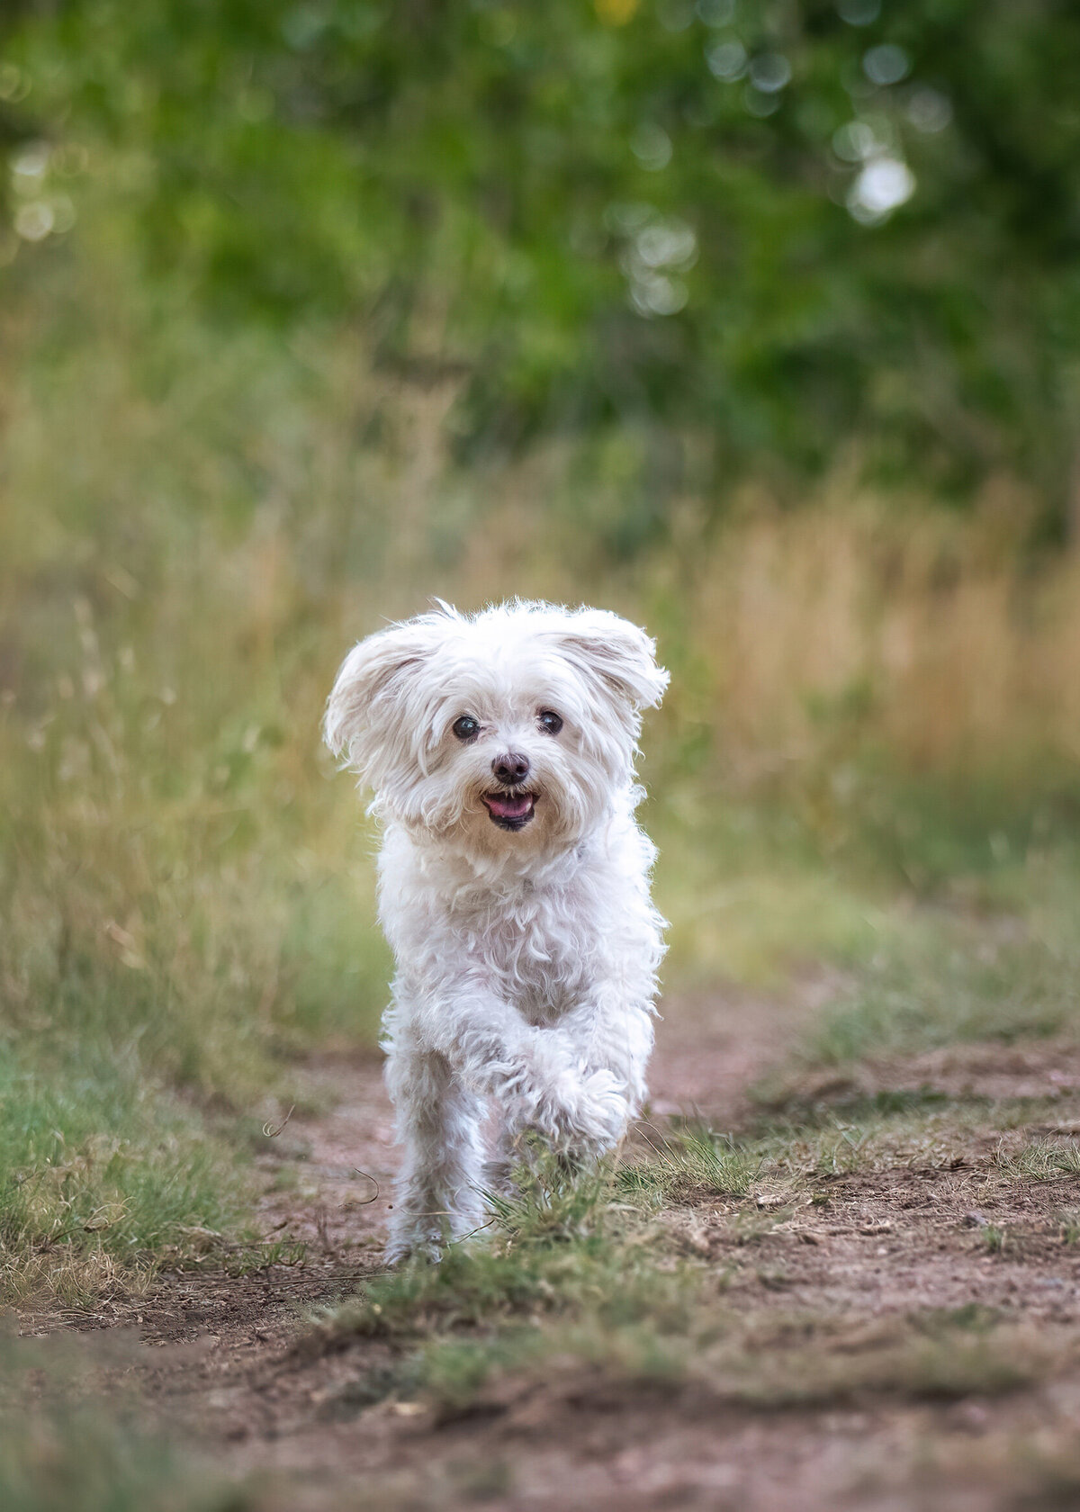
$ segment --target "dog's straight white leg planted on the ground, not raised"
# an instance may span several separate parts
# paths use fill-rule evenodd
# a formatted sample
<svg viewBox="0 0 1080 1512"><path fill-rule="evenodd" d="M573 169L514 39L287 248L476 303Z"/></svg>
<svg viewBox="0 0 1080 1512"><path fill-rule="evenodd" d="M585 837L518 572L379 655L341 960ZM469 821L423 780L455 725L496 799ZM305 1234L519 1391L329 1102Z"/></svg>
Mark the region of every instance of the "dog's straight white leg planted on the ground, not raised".
<svg viewBox="0 0 1080 1512"><path fill-rule="evenodd" d="M404 1146L386 1258L434 1258L484 1223L484 1104L443 1055L411 1043L390 1046L386 1083Z"/></svg>

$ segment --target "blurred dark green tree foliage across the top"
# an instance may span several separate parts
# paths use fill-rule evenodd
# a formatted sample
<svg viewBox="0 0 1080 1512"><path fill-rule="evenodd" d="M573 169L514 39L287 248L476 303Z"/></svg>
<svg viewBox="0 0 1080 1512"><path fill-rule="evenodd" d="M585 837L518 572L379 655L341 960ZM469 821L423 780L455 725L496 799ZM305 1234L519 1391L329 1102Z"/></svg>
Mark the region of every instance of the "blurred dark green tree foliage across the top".
<svg viewBox="0 0 1080 1512"><path fill-rule="evenodd" d="M215 319L322 314L460 375L466 458L572 432L604 472L629 432L656 502L625 550L681 488L790 490L838 448L956 496L1010 472L1066 520L1068 0L23 0L8 29L17 277L95 183Z"/></svg>

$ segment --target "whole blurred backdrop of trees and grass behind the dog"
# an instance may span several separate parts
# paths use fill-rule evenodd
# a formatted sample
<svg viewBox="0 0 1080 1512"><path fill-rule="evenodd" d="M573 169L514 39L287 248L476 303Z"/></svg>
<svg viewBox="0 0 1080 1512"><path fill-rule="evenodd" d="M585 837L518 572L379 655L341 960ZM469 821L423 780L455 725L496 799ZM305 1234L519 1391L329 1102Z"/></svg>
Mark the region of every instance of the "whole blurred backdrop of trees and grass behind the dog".
<svg viewBox="0 0 1080 1512"><path fill-rule="evenodd" d="M1075 919L1074 6L0 29L11 1287L57 1235L79 1288L224 1223L209 1113L374 1043L374 839L318 726L433 594L658 637L670 993L933 909Z"/></svg>

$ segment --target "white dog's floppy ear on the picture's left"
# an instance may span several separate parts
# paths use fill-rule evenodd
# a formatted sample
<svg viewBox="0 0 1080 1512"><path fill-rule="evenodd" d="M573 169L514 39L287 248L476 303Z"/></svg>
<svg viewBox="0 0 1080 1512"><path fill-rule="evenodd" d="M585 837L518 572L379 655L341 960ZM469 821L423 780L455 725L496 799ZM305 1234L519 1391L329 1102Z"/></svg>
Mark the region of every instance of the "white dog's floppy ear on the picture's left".
<svg viewBox="0 0 1080 1512"><path fill-rule="evenodd" d="M419 697L416 676L446 635L454 611L390 624L354 646L327 702L322 736L336 756L378 788L389 767L407 754L419 721L408 705Z"/></svg>

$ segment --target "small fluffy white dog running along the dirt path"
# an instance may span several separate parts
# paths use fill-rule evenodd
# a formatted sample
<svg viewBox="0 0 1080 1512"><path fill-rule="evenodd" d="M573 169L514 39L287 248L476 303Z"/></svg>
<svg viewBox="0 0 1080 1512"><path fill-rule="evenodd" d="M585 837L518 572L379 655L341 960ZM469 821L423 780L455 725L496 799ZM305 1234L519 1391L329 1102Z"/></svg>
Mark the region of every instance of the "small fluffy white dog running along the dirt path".
<svg viewBox="0 0 1080 1512"><path fill-rule="evenodd" d="M325 739L375 792L398 974L386 1080L405 1149L387 1259L484 1223L483 1126L570 1158L644 1098L664 921L634 809L641 709L667 673L604 609L504 603L349 652Z"/></svg>

